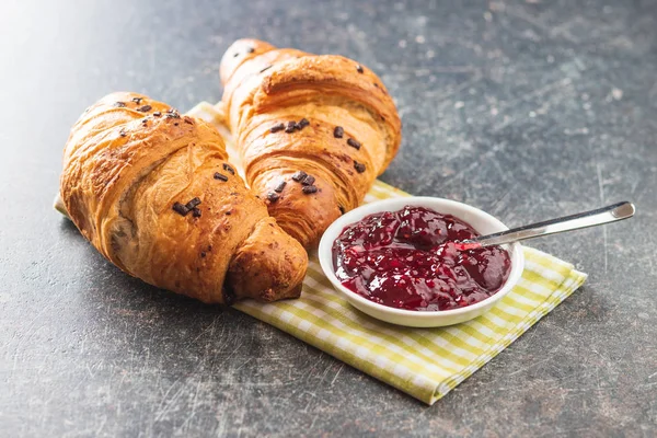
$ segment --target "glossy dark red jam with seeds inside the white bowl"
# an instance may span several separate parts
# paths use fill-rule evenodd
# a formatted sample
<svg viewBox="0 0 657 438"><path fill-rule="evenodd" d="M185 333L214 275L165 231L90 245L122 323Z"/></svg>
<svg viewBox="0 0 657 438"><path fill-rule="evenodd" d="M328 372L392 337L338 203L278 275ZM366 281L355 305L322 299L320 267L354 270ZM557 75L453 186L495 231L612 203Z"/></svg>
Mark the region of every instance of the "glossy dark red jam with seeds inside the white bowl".
<svg viewBox="0 0 657 438"><path fill-rule="evenodd" d="M479 233L451 215L406 206L346 227L333 243L333 265L349 290L397 309L459 309L497 292L509 276L499 246L461 251Z"/></svg>

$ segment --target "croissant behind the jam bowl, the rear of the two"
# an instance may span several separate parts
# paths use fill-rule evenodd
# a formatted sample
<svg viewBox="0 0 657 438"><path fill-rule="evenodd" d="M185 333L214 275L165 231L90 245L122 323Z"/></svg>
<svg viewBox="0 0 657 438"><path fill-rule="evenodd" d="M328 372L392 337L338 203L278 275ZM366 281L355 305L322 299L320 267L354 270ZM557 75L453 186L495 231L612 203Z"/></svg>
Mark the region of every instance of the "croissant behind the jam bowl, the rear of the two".
<svg viewBox="0 0 657 438"><path fill-rule="evenodd" d="M307 247L357 207L395 155L401 120L381 80L335 55L240 39L220 65L246 182Z"/></svg>

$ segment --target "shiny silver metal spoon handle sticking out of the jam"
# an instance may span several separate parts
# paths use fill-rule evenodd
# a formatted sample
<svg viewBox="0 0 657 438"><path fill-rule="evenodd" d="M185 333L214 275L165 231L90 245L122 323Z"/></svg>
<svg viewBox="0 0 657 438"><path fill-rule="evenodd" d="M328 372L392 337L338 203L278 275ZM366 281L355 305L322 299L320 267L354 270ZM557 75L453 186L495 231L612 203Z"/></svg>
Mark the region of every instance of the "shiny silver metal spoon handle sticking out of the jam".
<svg viewBox="0 0 657 438"><path fill-rule="evenodd" d="M634 216L634 205L629 201L613 204L607 207L590 211L579 212L577 215L564 216L562 218L551 219L543 222L537 222L525 227L514 228L495 234L481 235L476 239L463 242L465 246L480 247L491 245L502 245L519 240L539 238L541 235L554 234L564 231L577 230L579 228L601 226L603 223L615 222Z"/></svg>

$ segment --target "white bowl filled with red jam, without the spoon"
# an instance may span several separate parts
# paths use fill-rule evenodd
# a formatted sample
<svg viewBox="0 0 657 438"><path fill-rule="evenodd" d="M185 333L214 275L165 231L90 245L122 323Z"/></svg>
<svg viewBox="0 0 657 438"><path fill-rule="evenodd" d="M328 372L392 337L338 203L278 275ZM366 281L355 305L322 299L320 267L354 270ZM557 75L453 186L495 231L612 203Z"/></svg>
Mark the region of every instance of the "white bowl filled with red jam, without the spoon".
<svg viewBox="0 0 657 438"><path fill-rule="evenodd" d="M520 278L520 244L458 245L506 229L452 200L385 199L336 220L319 256L334 288L358 310L400 325L443 326L483 314Z"/></svg>

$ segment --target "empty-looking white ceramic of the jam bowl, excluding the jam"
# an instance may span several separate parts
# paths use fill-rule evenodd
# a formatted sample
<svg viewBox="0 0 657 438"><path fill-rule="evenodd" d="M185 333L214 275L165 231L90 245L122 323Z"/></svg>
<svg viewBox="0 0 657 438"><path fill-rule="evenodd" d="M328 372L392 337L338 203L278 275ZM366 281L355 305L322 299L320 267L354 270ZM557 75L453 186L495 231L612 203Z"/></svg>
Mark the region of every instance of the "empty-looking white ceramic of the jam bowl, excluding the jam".
<svg viewBox="0 0 657 438"><path fill-rule="evenodd" d="M320 242L318 255L320 257L320 264L322 265L324 275L326 275L326 277L331 280L331 284L335 290L341 292L356 309L369 314L370 316L392 324L407 325L412 327L440 327L469 321L487 312L493 306L495 306L497 301L503 299L504 296L511 290L516 283L518 283L525 267L525 256L522 254L522 247L520 244L512 243L510 245L504 245L511 256L511 270L502 289L485 300L465 308L426 312L394 309L370 301L367 298L364 298L344 287L335 276L335 269L333 266L332 246L333 242L335 242L335 239L337 239L337 237L343 232L345 227L354 222L358 222L368 215L379 211L396 211L407 205L423 206L441 214L452 215L470 223L481 234L489 234L508 230L508 228L499 220L477 208L462 203L457 203L456 200L433 197L415 196L384 199L377 203L366 204L347 212L346 215L343 215L324 232L324 235Z"/></svg>

